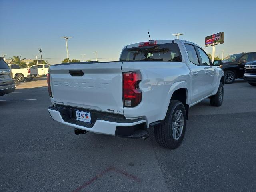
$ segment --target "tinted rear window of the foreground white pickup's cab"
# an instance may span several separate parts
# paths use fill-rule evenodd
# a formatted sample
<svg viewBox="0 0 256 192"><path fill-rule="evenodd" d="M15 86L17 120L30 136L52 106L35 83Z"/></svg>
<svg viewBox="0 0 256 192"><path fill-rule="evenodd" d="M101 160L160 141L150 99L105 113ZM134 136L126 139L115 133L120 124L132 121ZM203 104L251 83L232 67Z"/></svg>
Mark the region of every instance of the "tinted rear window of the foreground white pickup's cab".
<svg viewBox="0 0 256 192"><path fill-rule="evenodd" d="M154 46L125 48L120 61L182 61L176 43L156 44Z"/></svg>

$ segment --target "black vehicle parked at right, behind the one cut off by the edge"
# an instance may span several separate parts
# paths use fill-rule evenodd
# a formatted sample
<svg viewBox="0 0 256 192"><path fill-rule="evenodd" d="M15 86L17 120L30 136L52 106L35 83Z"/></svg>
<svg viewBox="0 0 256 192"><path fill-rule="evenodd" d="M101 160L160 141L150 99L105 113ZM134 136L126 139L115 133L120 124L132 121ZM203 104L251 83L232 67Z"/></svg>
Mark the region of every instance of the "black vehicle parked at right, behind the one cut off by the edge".
<svg viewBox="0 0 256 192"><path fill-rule="evenodd" d="M225 83L233 83L236 78L243 78L244 64L256 60L256 52L238 53L222 60L221 68L225 74Z"/></svg>

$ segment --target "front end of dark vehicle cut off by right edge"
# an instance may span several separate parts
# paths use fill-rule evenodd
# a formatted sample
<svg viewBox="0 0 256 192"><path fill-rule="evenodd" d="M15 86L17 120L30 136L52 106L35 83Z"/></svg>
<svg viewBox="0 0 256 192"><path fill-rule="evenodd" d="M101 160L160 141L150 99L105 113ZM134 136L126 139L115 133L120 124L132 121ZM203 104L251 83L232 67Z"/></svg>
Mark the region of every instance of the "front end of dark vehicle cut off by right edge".
<svg viewBox="0 0 256 192"><path fill-rule="evenodd" d="M250 85L256 86L256 60L245 64L244 80L246 80Z"/></svg>

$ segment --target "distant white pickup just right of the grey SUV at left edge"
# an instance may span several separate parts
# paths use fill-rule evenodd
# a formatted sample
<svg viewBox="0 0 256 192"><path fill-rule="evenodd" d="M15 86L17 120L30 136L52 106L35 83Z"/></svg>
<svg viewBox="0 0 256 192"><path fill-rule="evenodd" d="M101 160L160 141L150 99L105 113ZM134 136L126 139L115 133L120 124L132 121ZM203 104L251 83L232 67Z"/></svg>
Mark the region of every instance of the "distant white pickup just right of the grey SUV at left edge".
<svg viewBox="0 0 256 192"><path fill-rule="evenodd" d="M12 70L12 78L18 82L24 80L32 81L34 77L38 76L37 69L21 69L17 64L8 64Z"/></svg>

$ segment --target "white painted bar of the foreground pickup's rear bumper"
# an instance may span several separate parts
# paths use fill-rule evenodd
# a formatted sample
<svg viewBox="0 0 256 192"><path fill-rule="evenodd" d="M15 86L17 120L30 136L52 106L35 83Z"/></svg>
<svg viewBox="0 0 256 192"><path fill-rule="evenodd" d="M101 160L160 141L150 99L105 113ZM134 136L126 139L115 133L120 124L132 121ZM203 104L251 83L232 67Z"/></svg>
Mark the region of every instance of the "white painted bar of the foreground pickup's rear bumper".
<svg viewBox="0 0 256 192"><path fill-rule="evenodd" d="M138 122L133 122L133 123L116 123L116 122L109 122L109 121L103 121L103 120L96 120L96 122L94 123L94 126L92 128L87 128L84 126L65 122L62 119L62 117L58 111L51 110L51 109L48 109L48 111L50 112L50 114L54 120L56 120L62 124L72 126L74 128L90 131L93 133L106 134L106 135L115 135L117 126L134 126L134 125L141 124L141 123L145 122L145 120L140 120Z"/></svg>

